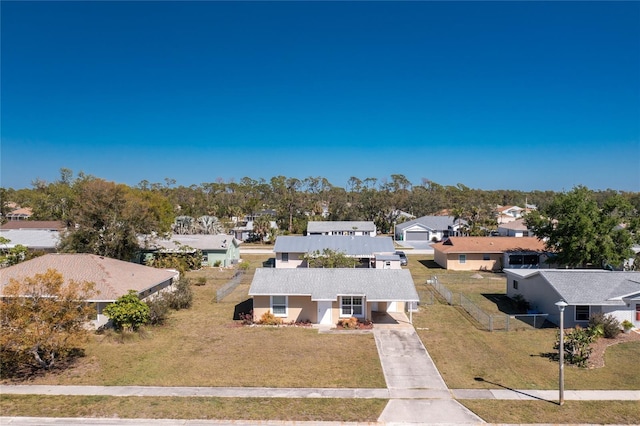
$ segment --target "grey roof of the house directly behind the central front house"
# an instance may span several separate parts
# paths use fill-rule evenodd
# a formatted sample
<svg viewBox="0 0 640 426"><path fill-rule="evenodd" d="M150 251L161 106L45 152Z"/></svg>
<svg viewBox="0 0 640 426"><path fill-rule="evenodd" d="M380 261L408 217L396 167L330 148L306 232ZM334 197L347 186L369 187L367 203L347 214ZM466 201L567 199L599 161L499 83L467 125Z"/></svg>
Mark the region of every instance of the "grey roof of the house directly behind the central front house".
<svg viewBox="0 0 640 426"><path fill-rule="evenodd" d="M330 249L348 256L372 256L374 253L394 253L391 237L368 235L307 235L280 236L273 246L275 253L311 253Z"/></svg>

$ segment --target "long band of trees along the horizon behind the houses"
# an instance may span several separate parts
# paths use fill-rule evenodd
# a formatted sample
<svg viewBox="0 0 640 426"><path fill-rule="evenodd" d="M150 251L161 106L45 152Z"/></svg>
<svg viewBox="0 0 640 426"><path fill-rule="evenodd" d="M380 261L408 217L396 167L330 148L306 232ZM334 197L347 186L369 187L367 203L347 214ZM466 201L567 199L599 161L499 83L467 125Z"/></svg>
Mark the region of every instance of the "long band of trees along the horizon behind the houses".
<svg viewBox="0 0 640 426"><path fill-rule="evenodd" d="M640 211L638 192L581 188L592 203L589 208L607 209L612 214L624 210L625 217L637 217ZM66 168L53 182L36 179L32 188L0 188L2 217L9 212L10 201L31 207L32 219L60 220L73 230L63 238L62 251L126 260L138 249L137 235L171 232L177 218L182 218L181 223L188 218L215 222L215 218L228 231L237 218L270 210L284 233L302 234L310 220L372 221L381 233L388 233L406 220L402 212L415 217L447 214L465 220L469 235L486 235L497 228L498 205L532 204L539 212L560 214L554 203L562 195L554 191L472 189L429 179L413 184L402 174L384 179L351 177L345 187L320 176L216 179L190 186L176 185L167 178L164 183L145 180L128 186L82 172L74 175ZM616 209L620 202L624 207ZM537 225L543 232L542 223Z"/></svg>

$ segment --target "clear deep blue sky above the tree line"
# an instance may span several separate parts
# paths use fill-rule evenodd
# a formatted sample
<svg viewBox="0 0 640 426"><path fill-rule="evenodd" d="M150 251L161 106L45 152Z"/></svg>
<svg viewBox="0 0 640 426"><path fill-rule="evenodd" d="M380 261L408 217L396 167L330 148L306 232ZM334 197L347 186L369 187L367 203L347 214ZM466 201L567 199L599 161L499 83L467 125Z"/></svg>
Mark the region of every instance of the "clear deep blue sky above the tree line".
<svg viewBox="0 0 640 426"><path fill-rule="evenodd" d="M640 2L1 3L4 187L640 191Z"/></svg>

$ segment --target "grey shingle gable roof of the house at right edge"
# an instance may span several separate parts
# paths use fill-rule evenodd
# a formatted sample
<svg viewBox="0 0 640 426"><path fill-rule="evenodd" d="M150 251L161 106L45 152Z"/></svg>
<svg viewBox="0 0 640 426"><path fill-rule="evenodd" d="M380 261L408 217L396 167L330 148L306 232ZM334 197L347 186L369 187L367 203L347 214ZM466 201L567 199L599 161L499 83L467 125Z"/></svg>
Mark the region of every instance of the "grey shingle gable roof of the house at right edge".
<svg viewBox="0 0 640 426"><path fill-rule="evenodd" d="M570 305L621 305L623 298L640 297L640 272L602 269L538 269L505 272L530 278L540 275Z"/></svg>

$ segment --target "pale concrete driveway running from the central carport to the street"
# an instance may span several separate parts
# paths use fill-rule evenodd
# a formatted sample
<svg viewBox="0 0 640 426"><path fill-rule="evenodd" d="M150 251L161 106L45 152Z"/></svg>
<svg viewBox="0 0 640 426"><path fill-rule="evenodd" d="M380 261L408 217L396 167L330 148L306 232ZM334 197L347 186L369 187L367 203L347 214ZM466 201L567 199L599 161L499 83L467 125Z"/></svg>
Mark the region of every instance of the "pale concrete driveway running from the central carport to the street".
<svg viewBox="0 0 640 426"><path fill-rule="evenodd" d="M484 423L453 399L406 316L393 314L392 321L376 323L373 335L391 398L379 422Z"/></svg>

